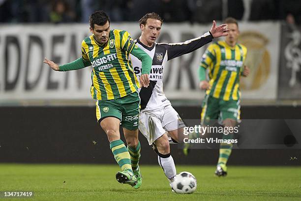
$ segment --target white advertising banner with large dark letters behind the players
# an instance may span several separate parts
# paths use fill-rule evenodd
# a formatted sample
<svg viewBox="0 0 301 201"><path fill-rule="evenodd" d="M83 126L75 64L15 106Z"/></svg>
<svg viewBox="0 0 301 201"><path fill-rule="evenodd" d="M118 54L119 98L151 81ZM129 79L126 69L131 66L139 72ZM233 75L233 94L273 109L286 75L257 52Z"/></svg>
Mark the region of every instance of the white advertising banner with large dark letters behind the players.
<svg viewBox="0 0 301 201"><path fill-rule="evenodd" d="M140 36L136 23L111 24L111 29ZM163 24L157 42L181 42L208 32L211 25ZM276 99L280 24L241 23L240 42L248 48L250 76L241 78L242 99ZM56 72L43 63L47 57L65 64L81 56L81 41L89 25L0 25L0 101L90 99L91 67ZM222 39L222 38L221 38ZM168 62L164 91L169 99L200 100L200 59L207 45Z"/></svg>

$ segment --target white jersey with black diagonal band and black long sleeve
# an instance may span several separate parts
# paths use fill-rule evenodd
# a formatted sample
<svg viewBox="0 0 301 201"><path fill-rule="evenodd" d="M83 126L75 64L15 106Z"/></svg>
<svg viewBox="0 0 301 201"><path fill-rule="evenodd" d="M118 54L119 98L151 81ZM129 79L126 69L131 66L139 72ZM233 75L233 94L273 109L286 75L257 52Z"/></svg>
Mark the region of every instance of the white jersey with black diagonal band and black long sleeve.
<svg viewBox="0 0 301 201"><path fill-rule="evenodd" d="M211 42L213 36L210 32L204 35L180 43L154 43L152 47L144 45L139 39L135 40L137 46L143 49L152 58L150 73L150 86L139 89L141 110L156 110L170 104L163 92L163 69L166 62L190 53L203 45ZM134 71L138 77L141 75L141 61L130 55Z"/></svg>

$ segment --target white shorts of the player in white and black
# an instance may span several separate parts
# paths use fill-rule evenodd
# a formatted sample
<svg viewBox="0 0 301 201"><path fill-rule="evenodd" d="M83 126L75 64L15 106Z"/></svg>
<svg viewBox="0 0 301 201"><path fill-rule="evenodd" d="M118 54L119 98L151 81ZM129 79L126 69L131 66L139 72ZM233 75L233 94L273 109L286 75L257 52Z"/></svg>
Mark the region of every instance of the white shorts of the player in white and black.
<svg viewBox="0 0 301 201"><path fill-rule="evenodd" d="M171 105L161 110L140 112L139 130L148 139L150 145L167 131L182 127L185 127L185 124Z"/></svg>

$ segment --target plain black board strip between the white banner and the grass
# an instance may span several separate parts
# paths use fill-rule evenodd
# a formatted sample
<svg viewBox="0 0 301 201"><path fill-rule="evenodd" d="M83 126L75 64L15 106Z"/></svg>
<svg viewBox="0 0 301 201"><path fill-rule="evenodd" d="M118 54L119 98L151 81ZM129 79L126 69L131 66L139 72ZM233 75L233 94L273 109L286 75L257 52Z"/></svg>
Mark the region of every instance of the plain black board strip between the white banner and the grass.
<svg viewBox="0 0 301 201"><path fill-rule="evenodd" d="M196 106L175 109L182 119L198 119L201 111ZM299 119L301 106L243 106L241 114L242 119ZM157 164L146 138L142 134L139 138L140 163ZM171 153L179 165L215 165L218 159L218 149L193 149L185 157L174 144ZM229 165L301 165L301 149L290 147L232 153ZM106 134L96 123L95 107L88 106L0 107L0 163L9 162L116 163Z"/></svg>

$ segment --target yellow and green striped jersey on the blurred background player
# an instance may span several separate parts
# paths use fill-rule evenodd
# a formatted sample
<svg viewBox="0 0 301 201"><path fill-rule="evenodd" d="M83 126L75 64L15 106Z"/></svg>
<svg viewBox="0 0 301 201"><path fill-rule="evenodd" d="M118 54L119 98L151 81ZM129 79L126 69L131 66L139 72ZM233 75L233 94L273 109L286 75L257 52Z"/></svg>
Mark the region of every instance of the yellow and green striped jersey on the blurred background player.
<svg viewBox="0 0 301 201"><path fill-rule="evenodd" d="M241 44L230 47L225 41L212 43L205 51L200 67L208 69L211 89L206 91L217 99L240 99L240 76L247 49Z"/></svg>

